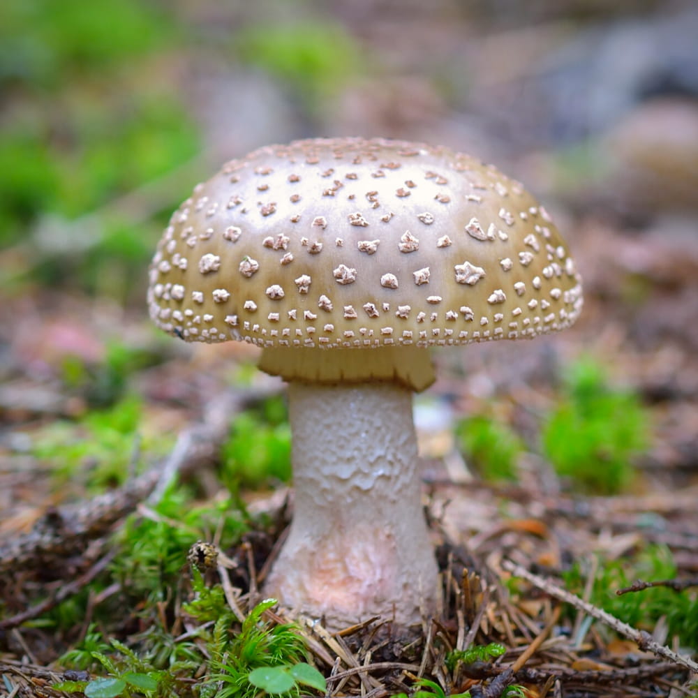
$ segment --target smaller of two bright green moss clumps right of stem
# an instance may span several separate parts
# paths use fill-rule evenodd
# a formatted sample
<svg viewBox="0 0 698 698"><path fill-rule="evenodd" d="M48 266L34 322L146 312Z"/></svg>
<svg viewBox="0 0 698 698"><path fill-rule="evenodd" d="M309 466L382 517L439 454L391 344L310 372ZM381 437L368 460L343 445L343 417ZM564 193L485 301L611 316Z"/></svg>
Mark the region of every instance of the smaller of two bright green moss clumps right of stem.
<svg viewBox="0 0 698 698"><path fill-rule="evenodd" d="M456 439L469 463L485 480L516 480L523 443L512 429L493 417L478 415L456 425Z"/></svg>

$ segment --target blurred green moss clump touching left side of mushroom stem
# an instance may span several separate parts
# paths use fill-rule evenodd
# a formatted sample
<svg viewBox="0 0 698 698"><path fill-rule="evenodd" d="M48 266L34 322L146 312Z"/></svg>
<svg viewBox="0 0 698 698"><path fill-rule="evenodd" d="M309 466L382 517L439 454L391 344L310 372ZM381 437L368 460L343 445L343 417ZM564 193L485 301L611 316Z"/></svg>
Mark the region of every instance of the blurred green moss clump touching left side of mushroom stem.
<svg viewBox="0 0 698 698"><path fill-rule="evenodd" d="M283 399L265 400L232 422L221 452L221 479L232 490L288 482L291 431Z"/></svg>

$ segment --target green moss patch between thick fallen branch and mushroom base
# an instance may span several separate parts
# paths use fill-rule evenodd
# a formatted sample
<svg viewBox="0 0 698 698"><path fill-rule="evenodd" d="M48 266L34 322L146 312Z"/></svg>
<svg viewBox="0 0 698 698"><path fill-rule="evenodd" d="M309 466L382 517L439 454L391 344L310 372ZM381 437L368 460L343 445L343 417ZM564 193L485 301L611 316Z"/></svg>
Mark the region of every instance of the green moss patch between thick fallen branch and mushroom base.
<svg viewBox="0 0 698 698"><path fill-rule="evenodd" d="M94 611L103 632L119 634L138 616L140 625L147 628L138 638L138 648L151 667L165 669L174 662L188 662L193 659L191 648L176 642L161 623L162 618L174 612L174 600L188 586L183 574L188 551L195 542L211 540L216 534L227 544L235 545L249 528L250 519L237 500L221 498L198 504L186 487L173 486L159 503L147 507L144 514L131 514L114 534L110 545L116 547L117 554L108 570L80 593L34 621L34 625L69 636L82 625L94 595L115 584L118 591ZM212 589L217 599L214 617L218 618L221 607L227 608L227 602L219 586ZM66 655L64 662L81 669L94 667L96 662L91 653L103 652L104 642L96 630L89 632ZM128 668L136 670L133 664Z"/></svg>

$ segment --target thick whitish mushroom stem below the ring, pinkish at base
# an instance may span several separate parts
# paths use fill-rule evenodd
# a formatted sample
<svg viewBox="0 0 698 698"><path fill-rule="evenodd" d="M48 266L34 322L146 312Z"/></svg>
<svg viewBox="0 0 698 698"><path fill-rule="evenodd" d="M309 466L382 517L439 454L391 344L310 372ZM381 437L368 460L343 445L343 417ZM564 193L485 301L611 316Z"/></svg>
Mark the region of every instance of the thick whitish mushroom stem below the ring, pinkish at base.
<svg viewBox="0 0 698 698"><path fill-rule="evenodd" d="M289 385L290 533L265 593L339 629L433 611L436 560L421 514L412 393L391 383Z"/></svg>

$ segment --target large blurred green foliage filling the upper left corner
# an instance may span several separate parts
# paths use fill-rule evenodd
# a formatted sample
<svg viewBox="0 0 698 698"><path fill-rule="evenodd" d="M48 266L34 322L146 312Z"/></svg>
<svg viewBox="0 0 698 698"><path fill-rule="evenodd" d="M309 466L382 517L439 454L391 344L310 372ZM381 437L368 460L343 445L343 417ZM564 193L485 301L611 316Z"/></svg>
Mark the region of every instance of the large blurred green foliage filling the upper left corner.
<svg viewBox="0 0 698 698"><path fill-rule="evenodd" d="M124 293L136 269L142 276L163 220L119 221L101 207L198 150L162 61L183 35L177 22L147 0L1 4L0 246L43 237L27 257L40 283L110 292L112 280ZM172 193L172 208L180 195ZM82 230L74 221L92 211L98 218ZM51 237L88 240L77 254L42 258Z"/></svg>

